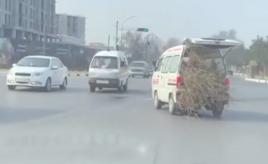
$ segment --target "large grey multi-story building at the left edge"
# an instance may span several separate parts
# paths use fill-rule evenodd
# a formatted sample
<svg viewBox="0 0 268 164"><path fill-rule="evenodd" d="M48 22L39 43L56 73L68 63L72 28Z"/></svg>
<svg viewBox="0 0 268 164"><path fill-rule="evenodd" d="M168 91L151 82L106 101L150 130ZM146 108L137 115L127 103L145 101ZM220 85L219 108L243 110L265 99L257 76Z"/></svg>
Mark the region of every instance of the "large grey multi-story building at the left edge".
<svg viewBox="0 0 268 164"><path fill-rule="evenodd" d="M55 0L0 0L0 35L47 40L54 37Z"/></svg>

